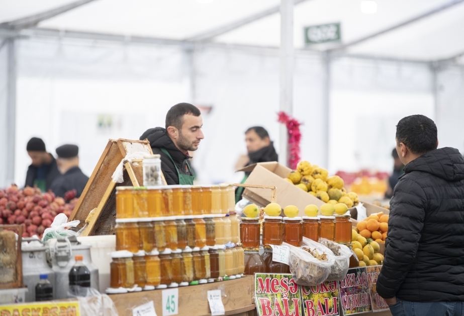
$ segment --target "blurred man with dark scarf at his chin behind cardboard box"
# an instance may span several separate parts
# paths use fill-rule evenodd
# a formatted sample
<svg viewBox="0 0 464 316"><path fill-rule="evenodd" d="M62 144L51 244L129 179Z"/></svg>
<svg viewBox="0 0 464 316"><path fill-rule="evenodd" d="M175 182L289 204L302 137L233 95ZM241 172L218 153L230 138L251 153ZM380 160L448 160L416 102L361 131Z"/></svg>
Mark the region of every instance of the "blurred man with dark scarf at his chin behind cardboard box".
<svg viewBox="0 0 464 316"><path fill-rule="evenodd" d="M274 144L269 138L269 133L264 127L253 126L245 131L245 142L247 155L243 155L237 162L236 169L250 166L257 163L276 162L279 160L275 152ZM241 183L245 183L250 172L245 172L245 177ZM235 203L242 199L244 188L238 187L235 191Z"/></svg>

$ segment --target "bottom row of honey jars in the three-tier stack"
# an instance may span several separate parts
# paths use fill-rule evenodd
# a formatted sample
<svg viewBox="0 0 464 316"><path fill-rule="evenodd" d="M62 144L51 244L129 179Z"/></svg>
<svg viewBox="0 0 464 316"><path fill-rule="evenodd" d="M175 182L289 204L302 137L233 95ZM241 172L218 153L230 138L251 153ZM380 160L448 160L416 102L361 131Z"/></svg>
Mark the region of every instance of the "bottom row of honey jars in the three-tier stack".
<svg viewBox="0 0 464 316"><path fill-rule="evenodd" d="M240 277L244 272L241 246L111 253L112 289L177 287ZM108 291L108 290L107 290ZM111 291L111 289L110 289ZM108 291L108 292L110 292Z"/></svg>

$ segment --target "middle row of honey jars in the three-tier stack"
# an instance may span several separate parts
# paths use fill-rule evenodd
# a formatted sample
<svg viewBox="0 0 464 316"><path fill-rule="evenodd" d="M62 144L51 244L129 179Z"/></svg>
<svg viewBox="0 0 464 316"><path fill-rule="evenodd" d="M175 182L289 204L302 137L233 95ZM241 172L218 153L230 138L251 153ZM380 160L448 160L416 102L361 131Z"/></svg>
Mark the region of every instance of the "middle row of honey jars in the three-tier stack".
<svg viewBox="0 0 464 316"><path fill-rule="evenodd" d="M162 252L240 243L239 219L235 212L156 218L116 219L116 250L137 253Z"/></svg>

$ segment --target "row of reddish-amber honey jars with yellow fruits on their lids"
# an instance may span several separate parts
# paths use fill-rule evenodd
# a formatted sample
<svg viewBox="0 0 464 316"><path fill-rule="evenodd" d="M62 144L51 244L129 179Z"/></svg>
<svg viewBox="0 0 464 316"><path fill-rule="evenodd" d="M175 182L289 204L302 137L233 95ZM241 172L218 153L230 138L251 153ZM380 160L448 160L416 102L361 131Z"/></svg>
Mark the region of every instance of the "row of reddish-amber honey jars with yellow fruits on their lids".
<svg viewBox="0 0 464 316"><path fill-rule="evenodd" d="M260 224L258 218L242 218L240 235L243 247L258 248L260 245ZM341 244L351 243L350 215L318 217L264 216L262 222L262 245L282 245L285 241L296 247L301 246L303 236L316 242L326 238Z"/></svg>

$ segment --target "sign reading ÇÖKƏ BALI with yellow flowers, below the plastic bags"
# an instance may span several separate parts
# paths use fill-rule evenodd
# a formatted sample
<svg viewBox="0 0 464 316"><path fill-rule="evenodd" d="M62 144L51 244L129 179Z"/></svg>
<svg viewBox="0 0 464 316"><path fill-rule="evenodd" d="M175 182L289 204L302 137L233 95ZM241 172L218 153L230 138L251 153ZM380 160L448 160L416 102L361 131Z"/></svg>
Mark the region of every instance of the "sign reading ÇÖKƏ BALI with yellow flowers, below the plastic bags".
<svg viewBox="0 0 464 316"><path fill-rule="evenodd" d="M324 282L317 286L301 286L303 315L340 315L338 308L338 282Z"/></svg>

